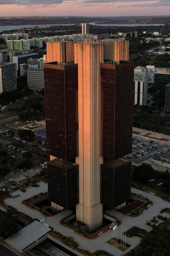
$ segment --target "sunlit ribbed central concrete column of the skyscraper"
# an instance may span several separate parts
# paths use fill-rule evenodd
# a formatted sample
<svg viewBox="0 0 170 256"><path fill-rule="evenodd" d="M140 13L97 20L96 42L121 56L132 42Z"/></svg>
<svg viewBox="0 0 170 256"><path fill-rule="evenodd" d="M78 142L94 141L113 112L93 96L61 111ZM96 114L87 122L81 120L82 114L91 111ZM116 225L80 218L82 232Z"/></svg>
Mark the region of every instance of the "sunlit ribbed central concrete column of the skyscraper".
<svg viewBox="0 0 170 256"><path fill-rule="evenodd" d="M103 219L100 204L100 63L103 43L74 44L78 63L78 152L79 204L76 218L90 230L99 227Z"/></svg>

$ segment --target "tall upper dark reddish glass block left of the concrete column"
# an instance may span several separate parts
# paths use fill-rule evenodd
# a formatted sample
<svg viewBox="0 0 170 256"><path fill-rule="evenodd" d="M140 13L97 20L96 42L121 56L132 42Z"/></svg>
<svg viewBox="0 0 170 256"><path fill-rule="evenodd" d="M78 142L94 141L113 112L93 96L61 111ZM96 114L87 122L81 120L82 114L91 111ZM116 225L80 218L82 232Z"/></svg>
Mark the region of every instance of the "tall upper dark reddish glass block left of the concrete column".
<svg viewBox="0 0 170 256"><path fill-rule="evenodd" d="M47 152L78 156L78 64L44 64Z"/></svg>

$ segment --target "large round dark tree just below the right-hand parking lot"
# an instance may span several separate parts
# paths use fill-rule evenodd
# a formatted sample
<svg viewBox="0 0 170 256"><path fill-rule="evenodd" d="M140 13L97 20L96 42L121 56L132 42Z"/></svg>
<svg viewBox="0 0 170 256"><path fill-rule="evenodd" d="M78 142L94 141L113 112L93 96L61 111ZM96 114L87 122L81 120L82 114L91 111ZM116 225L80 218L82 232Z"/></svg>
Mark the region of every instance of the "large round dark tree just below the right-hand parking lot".
<svg viewBox="0 0 170 256"><path fill-rule="evenodd" d="M137 180L143 181L144 183L148 182L151 177L155 176L155 170L149 164L141 164L136 167L133 177Z"/></svg>

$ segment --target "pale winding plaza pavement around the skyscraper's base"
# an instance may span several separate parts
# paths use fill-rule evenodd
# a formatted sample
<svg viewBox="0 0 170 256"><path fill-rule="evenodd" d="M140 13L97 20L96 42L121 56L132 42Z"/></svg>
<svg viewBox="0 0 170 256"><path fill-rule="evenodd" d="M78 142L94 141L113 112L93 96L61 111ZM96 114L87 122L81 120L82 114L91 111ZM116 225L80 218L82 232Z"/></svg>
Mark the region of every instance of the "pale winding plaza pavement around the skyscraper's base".
<svg viewBox="0 0 170 256"><path fill-rule="evenodd" d="M20 194L20 196L14 198L14 199L7 198L4 200L4 202L6 204L9 204L9 205L17 208L18 211L26 213L33 219L37 218L38 220L42 220L44 218L44 216L41 215L41 213L39 213L35 210L32 210L29 207L27 207L21 203L21 201L23 201L31 196L34 196L40 192L47 191L47 187L48 187L47 184L45 184L43 182L39 182L38 185L40 185L40 187L38 187L38 188L32 187L32 188L26 189L25 193L23 193L21 191L13 192L12 193L13 196L17 195L17 194ZM165 207L170 208L170 203L162 200L161 198L159 198L157 196L154 196L152 194L138 190L136 188L131 188L131 192L136 193L136 194L142 194L143 196L149 198L149 200L151 200L153 202L153 205L149 206L149 208L147 210L144 210L144 212L141 215L139 215L138 217L129 217L129 216L123 215L122 213L115 211L115 210L107 210L107 212L110 215L113 214L113 216L120 219L122 221L122 226L126 225L126 231L129 228L132 228L133 226L137 226L139 228L144 228L147 231L151 231L152 228L147 226L146 222L150 221L153 218L153 216L157 216L158 214L160 214L160 210L162 208L165 208ZM96 239L88 240L85 237L82 237L82 236L78 235L77 233L75 233L72 229L64 227L60 224L60 220L70 214L71 214L70 210L64 210L63 212L60 212L53 217L46 217L46 220L43 221L42 223L48 224L49 226L53 227L55 231L60 232L64 236L73 236L74 241L76 243L78 243L79 247L81 247L84 250L88 250L91 253L95 252L97 250L105 250L114 256L121 256L121 255L127 253L128 251L130 251L131 249L133 249L134 247L136 247L140 243L139 237L129 238L126 236L126 242L128 244L130 244L131 246L127 250L122 252L121 250L113 247L112 245L107 244L107 241L112 238L112 229L110 229L109 231L107 231L104 234L101 234ZM161 222L161 221L159 220L159 222ZM118 238L121 238L121 226L118 227Z"/></svg>

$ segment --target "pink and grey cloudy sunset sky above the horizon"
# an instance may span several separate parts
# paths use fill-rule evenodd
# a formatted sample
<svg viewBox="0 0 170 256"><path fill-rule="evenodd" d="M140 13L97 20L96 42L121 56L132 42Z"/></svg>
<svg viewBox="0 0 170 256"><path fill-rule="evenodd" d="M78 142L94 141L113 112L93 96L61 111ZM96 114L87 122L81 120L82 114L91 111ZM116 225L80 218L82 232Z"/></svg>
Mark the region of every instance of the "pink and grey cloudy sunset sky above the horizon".
<svg viewBox="0 0 170 256"><path fill-rule="evenodd" d="M169 15L170 0L0 0L0 16Z"/></svg>

